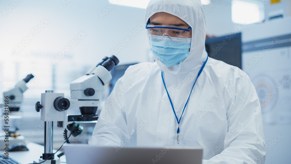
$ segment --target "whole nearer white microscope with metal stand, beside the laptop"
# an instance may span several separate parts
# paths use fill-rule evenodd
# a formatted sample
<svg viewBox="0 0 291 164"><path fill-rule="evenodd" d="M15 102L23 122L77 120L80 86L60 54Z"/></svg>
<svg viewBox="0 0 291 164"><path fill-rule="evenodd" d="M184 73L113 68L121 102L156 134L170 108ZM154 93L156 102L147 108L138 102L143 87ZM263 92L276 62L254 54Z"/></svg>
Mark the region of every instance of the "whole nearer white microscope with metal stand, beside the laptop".
<svg viewBox="0 0 291 164"><path fill-rule="evenodd" d="M36 111L41 110L41 120L45 121L45 151L39 162L44 164L60 164L59 159L54 159L53 153L53 122L57 121L58 127L63 127L64 122L74 121L67 126L73 136L79 135L83 128L75 122L97 122L99 117L96 114L99 100L102 99L104 85L112 76L110 70L119 63L119 60L112 55L104 57L97 66L91 68L86 75L74 80L70 84L70 100L64 98L63 93L45 91L41 94L41 103L36 103ZM78 108L81 114L67 116L67 110ZM34 163L37 163L34 161Z"/></svg>

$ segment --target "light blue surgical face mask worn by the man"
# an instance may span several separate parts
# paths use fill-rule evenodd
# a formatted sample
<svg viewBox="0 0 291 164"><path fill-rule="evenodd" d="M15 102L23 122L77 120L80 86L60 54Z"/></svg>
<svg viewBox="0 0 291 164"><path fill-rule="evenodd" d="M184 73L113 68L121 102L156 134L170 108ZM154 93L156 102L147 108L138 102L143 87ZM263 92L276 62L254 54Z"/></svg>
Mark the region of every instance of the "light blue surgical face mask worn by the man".
<svg viewBox="0 0 291 164"><path fill-rule="evenodd" d="M161 40L162 39L162 40ZM150 36L152 53L165 66L174 66L190 55L191 38L169 38L168 36Z"/></svg>

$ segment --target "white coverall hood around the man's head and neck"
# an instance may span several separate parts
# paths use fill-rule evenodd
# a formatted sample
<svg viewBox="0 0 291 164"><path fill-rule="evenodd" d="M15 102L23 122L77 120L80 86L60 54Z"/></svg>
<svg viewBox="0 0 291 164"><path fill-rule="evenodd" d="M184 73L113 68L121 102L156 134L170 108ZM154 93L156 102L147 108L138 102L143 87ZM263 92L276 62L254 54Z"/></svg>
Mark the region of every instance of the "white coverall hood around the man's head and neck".
<svg viewBox="0 0 291 164"><path fill-rule="evenodd" d="M157 64L164 72L184 74L202 66L207 57L205 51L206 20L200 0L151 0L145 13L145 22L155 13L165 12L186 22L192 28L190 55L178 65L167 67L161 61Z"/></svg>

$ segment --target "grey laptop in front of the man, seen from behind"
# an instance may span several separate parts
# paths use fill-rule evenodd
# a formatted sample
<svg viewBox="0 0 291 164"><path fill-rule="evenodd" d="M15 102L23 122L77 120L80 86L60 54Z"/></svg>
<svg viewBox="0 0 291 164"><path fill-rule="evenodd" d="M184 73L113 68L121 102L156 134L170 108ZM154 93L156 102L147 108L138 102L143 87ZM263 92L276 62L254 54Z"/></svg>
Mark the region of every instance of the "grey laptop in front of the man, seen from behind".
<svg viewBox="0 0 291 164"><path fill-rule="evenodd" d="M202 164L201 147L105 147L64 144L68 164Z"/></svg>

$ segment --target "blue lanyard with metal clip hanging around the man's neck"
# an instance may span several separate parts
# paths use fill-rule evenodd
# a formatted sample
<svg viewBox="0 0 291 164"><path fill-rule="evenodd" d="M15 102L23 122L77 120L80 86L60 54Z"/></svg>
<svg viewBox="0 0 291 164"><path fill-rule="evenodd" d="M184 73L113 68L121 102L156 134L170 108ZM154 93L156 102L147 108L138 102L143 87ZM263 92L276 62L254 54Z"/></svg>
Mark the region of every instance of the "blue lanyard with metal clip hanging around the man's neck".
<svg viewBox="0 0 291 164"><path fill-rule="evenodd" d="M192 92L192 90L193 90L193 88L194 88L194 85L195 85L195 83L196 83L198 77L200 76L200 74L201 74L201 72L202 72L202 70L203 70L203 68L204 68L204 66L205 66L205 64L206 64L206 62L207 62L207 60L208 60L208 55L207 55L207 58L206 58L205 62L203 63L202 67L200 68L200 70L199 70L199 72L198 72L198 75L197 75L196 80L195 80L195 82L194 82L194 84L193 84L193 87L192 87L192 89L191 89L191 92ZM169 98L169 100L170 100L170 103L171 103L171 106L172 106L173 112L174 112L175 117L176 117L177 122L178 122L177 143L179 144L180 121L181 121L182 115L183 115L183 113L184 113L184 110L185 110L185 108L186 108L186 106L187 106L187 103L188 103L188 101L189 101L189 98L190 98L191 92L190 92L189 97L188 97L188 99L187 99L187 101L186 101L186 104L185 104L185 106L184 106L184 109L183 109L183 112L182 112L182 114L181 114L181 117L180 117L180 119L178 120L177 114L176 114L176 112L175 112L175 110L174 110L174 106L173 106L172 100L171 100L170 95L169 95L169 93L168 93L168 90L167 90L167 88L166 88L166 84L165 84L165 81L164 81L163 71L162 71L162 70L161 70L161 73L162 73L162 80L163 80L163 83L164 83L164 86L165 86L166 92L167 92L167 94L168 94L168 98Z"/></svg>

